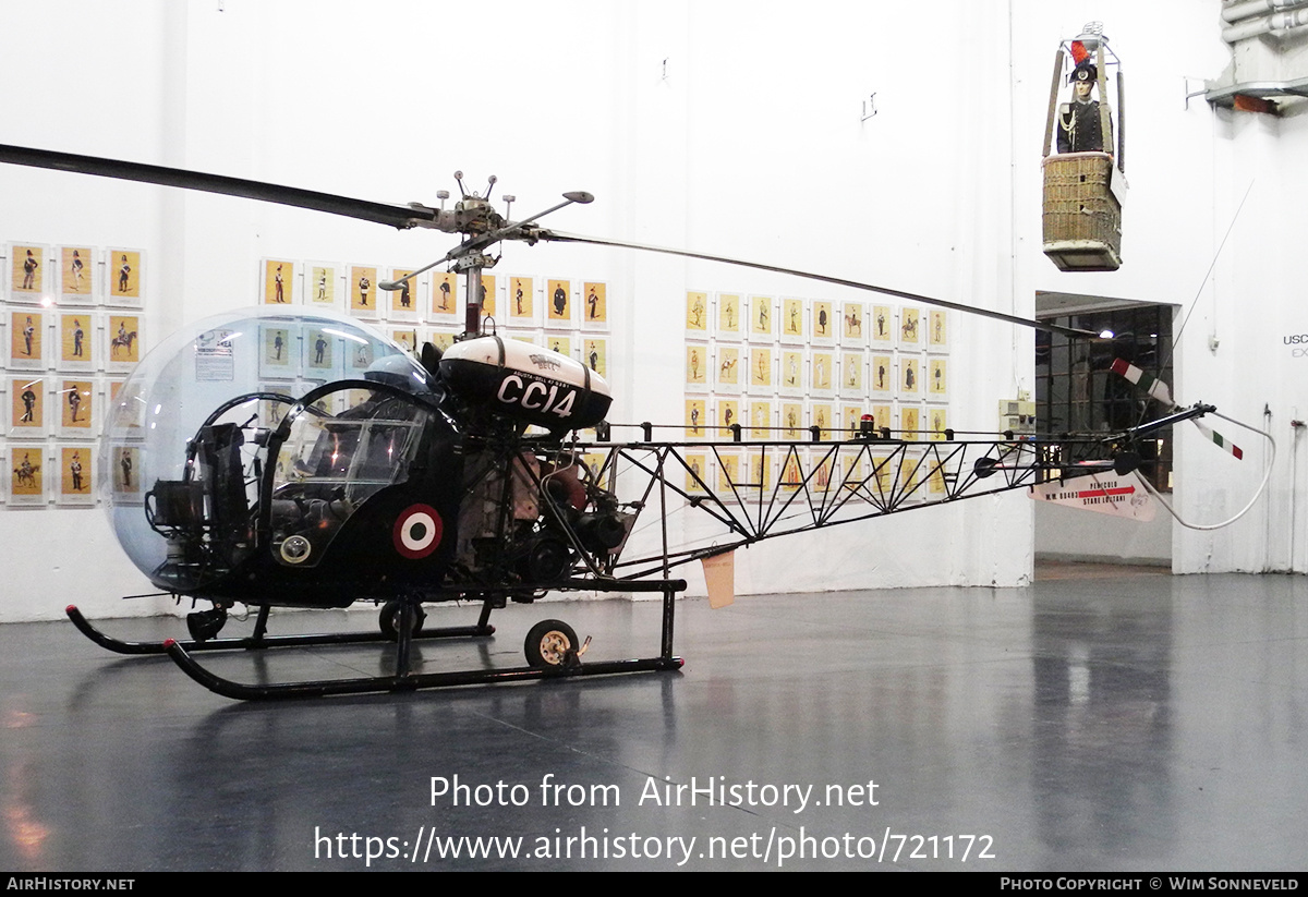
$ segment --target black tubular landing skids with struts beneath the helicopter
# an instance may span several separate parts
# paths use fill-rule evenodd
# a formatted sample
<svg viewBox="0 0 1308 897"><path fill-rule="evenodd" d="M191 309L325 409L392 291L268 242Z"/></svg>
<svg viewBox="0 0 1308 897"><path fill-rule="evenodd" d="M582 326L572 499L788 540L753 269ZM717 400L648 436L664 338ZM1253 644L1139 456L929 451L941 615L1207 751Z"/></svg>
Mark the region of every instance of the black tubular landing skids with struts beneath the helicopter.
<svg viewBox="0 0 1308 897"><path fill-rule="evenodd" d="M595 590L595 581L569 582L572 588ZM167 654L178 667L191 679L204 685L211 692L237 701L268 701L281 698L307 698L326 697L332 694L369 694L415 692L428 688L453 688L458 685L492 685L497 683L521 683L538 679L570 679L573 676L606 676L613 673L654 672L680 669L684 660L672 655L672 624L675 613L676 594L685 590L684 579L667 581L612 581L613 591L630 592L662 592L662 646L655 658L638 658L630 660L599 660L582 663L581 654L574 643L568 645L562 651L549 654L549 659L539 666L510 667L504 669L460 669L434 673L415 673L411 669L411 649L413 639L451 638L459 635L489 635L494 626L487 624L487 618L493 608L490 599L485 600L481 616L475 626L447 626L443 629L421 629L413 632L413 615L419 612L419 605L402 603L395 620L395 638L388 638L381 633L337 633L317 635L273 635L264 634L267 624L267 608L260 608L259 620L255 624L255 634L249 638L209 638L203 642L195 639L167 639L162 645L149 642L127 642L106 635L95 629L75 605L68 605L68 618L89 639L118 654ZM555 624L559 621L548 621ZM569 629L566 624L559 624L561 629ZM532 630L536 632L535 629ZM569 630L570 633L570 630ZM555 633L551 633L555 635ZM528 635L528 639L531 637ZM576 639L576 635L572 635ZM589 639L587 639L589 642ZM395 645L395 673L391 676L365 676L360 679L331 679L303 683L269 683L266 685L249 685L230 679L203 667L194 656L195 651L220 651L239 649L266 649L266 647L303 647L317 645L366 645L366 643L394 643ZM539 652L538 652L539 656ZM528 650L530 658L530 650Z"/></svg>

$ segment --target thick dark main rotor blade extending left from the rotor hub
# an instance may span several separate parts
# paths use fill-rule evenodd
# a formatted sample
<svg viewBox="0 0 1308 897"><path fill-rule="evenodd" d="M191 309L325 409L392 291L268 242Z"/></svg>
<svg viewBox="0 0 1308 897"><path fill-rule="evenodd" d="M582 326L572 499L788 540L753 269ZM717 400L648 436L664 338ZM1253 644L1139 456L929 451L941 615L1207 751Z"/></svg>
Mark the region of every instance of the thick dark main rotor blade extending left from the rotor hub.
<svg viewBox="0 0 1308 897"><path fill-rule="evenodd" d="M402 230L412 228L417 221L432 221L436 217L433 209L424 207L387 205L386 203L370 203L362 199L319 194L313 190L300 190L298 187L283 187L260 180L228 178L220 174L203 174L200 171L187 171L186 169L144 165L141 162L123 162L98 156L56 153L48 149L30 149L27 146L0 144L0 162L30 165L38 169L55 169L56 171L94 174L102 178L119 178L122 180L141 180L164 187L200 190L226 196L242 196L245 199L292 205L301 209L327 212L328 214L343 214L348 218L373 221Z"/></svg>

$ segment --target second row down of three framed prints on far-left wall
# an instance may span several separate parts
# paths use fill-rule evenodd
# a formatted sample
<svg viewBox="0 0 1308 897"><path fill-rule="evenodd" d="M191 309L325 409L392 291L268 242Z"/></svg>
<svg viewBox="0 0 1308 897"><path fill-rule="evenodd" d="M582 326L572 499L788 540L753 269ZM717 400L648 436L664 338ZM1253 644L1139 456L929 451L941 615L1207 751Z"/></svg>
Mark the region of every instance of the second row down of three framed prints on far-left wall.
<svg viewBox="0 0 1308 897"><path fill-rule="evenodd" d="M10 370L126 373L141 360L144 315L131 311L7 305L0 345Z"/></svg>

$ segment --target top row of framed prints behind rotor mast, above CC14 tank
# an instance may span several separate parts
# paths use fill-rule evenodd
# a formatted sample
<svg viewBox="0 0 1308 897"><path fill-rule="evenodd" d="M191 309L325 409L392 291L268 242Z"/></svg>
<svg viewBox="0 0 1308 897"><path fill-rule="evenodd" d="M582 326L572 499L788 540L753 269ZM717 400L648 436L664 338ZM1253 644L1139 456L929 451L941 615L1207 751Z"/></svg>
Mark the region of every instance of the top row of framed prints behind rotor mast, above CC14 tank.
<svg viewBox="0 0 1308 897"><path fill-rule="evenodd" d="M348 311L366 320L462 324L464 279L451 271L260 259L259 302ZM395 290L379 284L409 277ZM509 327L607 331L608 284L599 280L481 275L481 314Z"/></svg>

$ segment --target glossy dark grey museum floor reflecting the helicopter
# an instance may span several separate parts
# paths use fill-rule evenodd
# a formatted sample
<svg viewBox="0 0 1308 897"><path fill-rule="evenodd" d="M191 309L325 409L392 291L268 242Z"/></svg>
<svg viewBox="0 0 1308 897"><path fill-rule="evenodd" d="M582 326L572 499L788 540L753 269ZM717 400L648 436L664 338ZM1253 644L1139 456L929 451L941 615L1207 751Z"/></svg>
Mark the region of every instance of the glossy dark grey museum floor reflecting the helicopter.
<svg viewBox="0 0 1308 897"><path fill-rule="evenodd" d="M369 851L382 870L1303 870L1308 578L1050 577L681 601L676 673L262 705L67 622L0 626L0 870L360 870ZM543 617L593 635L587 658L657 652L657 603L570 601L419 656L519 666ZM365 647L205 663L245 681L385 666ZM468 859L463 836L500 841Z"/></svg>

